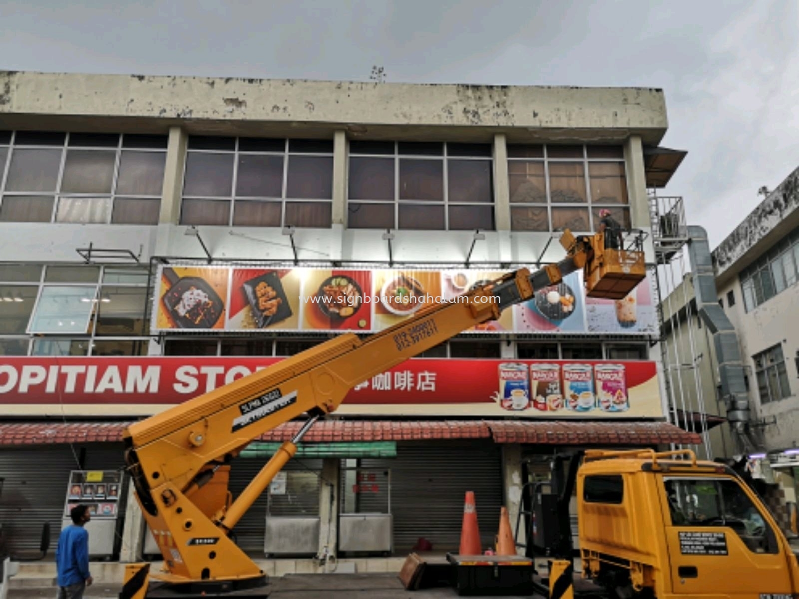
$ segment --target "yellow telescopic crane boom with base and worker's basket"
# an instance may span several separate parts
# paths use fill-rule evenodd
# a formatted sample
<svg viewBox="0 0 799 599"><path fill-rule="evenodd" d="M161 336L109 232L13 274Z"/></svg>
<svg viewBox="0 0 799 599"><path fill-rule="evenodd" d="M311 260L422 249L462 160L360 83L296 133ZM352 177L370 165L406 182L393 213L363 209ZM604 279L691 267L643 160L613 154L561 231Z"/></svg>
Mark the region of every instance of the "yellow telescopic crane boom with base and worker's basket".
<svg viewBox="0 0 799 599"><path fill-rule="evenodd" d="M531 300L536 290L559 284L572 272L584 272L587 296L609 299L627 296L646 276L640 244L636 251L606 249L602 232L574 236L568 230L560 244L566 257L557 264L509 272L468 292L467 301L431 303L364 339L338 335L128 426L126 469L164 561L159 572L151 572L148 562L127 565L120 598L268 596L268 577L233 541L233 529L296 454L304 434L335 411L352 387L461 331L498 319L507 307ZM228 489L233 459L261 434L300 417L307 421L294 438L234 499ZM614 532L620 538L630 530L623 518L610 522L620 527ZM599 526L592 534L601 536L602 530ZM630 538L626 546L637 541Z"/></svg>

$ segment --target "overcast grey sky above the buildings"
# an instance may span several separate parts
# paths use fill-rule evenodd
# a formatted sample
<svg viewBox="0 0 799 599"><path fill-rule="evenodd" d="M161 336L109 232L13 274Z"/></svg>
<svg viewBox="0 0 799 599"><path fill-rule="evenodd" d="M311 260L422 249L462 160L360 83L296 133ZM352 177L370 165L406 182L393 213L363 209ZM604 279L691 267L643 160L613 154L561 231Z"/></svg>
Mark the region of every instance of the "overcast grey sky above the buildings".
<svg viewBox="0 0 799 599"><path fill-rule="evenodd" d="M715 247L799 165L797 31L796 0L0 0L0 69L658 87Z"/></svg>

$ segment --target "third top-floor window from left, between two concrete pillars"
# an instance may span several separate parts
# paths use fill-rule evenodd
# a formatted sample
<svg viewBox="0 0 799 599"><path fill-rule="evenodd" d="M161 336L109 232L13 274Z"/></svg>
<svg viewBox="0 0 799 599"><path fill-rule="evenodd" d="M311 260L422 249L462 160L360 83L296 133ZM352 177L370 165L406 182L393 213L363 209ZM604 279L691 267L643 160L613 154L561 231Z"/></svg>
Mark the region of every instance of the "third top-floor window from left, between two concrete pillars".
<svg viewBox="0 0 799 599"><path fill-rule="evenodd" d="M348 228L493 230L491 144L351 141Z"/></svg>

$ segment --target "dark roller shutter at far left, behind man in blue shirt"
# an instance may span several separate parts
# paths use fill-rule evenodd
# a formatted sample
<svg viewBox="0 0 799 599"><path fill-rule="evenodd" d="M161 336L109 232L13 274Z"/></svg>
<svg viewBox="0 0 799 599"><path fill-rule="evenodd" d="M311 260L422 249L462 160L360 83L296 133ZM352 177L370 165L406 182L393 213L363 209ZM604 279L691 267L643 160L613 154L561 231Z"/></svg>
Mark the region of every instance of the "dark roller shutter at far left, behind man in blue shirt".
<svg viewBox="0 0 799 599"><path fill-rule="evenodd" d="M75 448L80 455L79 448ZM0 450L0 523L6 551L38 551L42 526L50 522L50 556L61 531L70 471L78 470L70 446ZM0 553L2 548L0 548Z"/></svg>

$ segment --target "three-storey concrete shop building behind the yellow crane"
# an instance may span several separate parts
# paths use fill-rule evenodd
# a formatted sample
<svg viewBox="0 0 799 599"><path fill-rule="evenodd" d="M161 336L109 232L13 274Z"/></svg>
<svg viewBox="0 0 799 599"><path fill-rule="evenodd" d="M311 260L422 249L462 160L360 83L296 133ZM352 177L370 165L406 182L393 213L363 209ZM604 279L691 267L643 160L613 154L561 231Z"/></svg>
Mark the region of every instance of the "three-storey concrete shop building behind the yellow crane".
<svg viewBox="0 0 799 599"><path fill-rule="evenodd" d="M6 541L37 545L82 499L116 530L97 555L153 553L115 478L125 425L407 318L304 300L338 280L365 298L411 276L455 297L560 260L559 230L592 232L601 208L626 240L643 235L654 264L647 188L682 157L658 147L666 128L660 89L0 73ZM169 300L191 277L208 302L197 318ZM282 289L287 312L260 305L261 284ZM523 483L558 448L698 443L669 422L651 281L623 313L586 300L579 273L558 292L575 307L514 307L356 387L237 527L240 545L261 558L404 555L419 538L447 549L466 490L490 545L499 507L515 523ZM507 364L525 381L531 367L624 370L623 402L558 391L517 405L500 395ZM233 467L234 494L297 426L260 436ZM383 537L350 534L365 513ZM306 532L281 537L280 518Z"/></svg>

